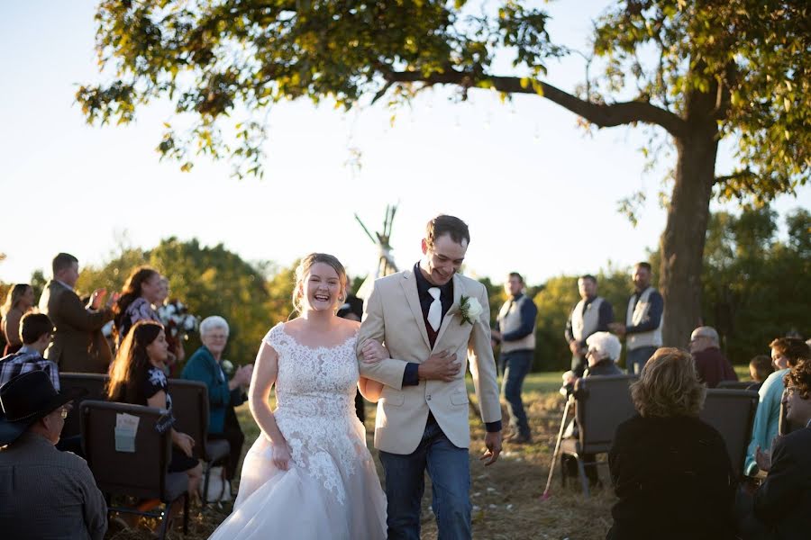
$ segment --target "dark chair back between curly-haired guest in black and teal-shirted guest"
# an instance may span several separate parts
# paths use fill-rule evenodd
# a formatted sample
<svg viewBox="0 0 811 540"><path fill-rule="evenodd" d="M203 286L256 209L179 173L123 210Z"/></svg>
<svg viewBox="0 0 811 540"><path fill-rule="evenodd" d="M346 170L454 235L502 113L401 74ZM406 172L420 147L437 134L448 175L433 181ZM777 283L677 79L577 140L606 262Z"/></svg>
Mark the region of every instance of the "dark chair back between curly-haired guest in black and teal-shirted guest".
<svg viewBox="0 0 811 540"><path fill-rule="evenodd" d="M733 470L739 476L743 475L757 408L758 392L711 388L706 391L704 409L698 415L724 438Z"/></svg>

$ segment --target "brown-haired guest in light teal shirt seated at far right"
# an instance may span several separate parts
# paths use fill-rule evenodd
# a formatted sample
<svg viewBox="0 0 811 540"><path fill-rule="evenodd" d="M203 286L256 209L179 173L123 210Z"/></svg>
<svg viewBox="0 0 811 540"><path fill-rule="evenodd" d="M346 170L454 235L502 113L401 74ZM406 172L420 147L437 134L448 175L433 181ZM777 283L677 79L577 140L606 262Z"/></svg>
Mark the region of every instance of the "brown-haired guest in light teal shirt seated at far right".
<svg viewBox="0 0 811 540"><path fill-rule="evenodd" d="M780 400L783 397L783 377L788 369L797 365L800 358L811 357L809 348L802 339L777 338L769 344L771 361L778 371L770 374L763 382L758 402L758 410L752 424L752 441L746 451L743 471L749 476L758 473L755 454L758 448L769 450L774 437L777 437L780 424Z"/></svg>

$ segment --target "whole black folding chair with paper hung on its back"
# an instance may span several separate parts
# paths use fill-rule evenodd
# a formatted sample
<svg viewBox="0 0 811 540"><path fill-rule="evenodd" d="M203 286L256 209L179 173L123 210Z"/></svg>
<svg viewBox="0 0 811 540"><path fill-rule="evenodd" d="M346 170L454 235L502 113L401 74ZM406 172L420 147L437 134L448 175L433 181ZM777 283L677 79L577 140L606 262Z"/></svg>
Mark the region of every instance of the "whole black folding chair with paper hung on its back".
<svg viewBox="0 0 811 540"><path fill-rule="evenodd" d="M96 478L98 489L105 494L107 512L121 512L158 518L161 521L159 538L166 536L172 504L183 498L183 534L188 533L188 477L186 473L169 473L171 437L169 430L159 433L156 426L166 414L165 410L112 403L83 401L80 406L82 443L90 471ZM122 443L116 434L119 415L138 418L132 448ZM119 447L116 448L116 437ZM112 506L114 495L137 499L159 499L162 508L142 511L133 507Z"/></svg>

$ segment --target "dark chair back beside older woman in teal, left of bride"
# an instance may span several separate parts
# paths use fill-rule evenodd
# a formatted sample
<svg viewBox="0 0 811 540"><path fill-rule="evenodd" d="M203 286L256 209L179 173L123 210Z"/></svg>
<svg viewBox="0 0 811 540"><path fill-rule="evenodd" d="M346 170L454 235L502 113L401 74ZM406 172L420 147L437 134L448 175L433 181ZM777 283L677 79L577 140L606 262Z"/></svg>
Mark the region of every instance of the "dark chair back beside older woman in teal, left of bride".
<svg viewBox="0 0 811 540"><path fill-rule="evenodd" d="M208 387L200 381L169 379L167 392L172 396L175 429L195 439L194 456L211 461L205 452L208 438Z"/></svg>

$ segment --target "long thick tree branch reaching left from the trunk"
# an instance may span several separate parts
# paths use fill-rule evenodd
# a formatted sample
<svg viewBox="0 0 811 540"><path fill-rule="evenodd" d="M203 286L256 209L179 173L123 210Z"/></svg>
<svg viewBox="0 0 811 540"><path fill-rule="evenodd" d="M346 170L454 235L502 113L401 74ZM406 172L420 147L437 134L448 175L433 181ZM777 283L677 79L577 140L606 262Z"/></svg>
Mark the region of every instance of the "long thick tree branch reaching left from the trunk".
<svg viewBox="0 0 811 540"><path fill-rule="evenodd" d="M548 83L528 81L517 76L474 76L456 70L446 70L429 76L424 76L419 71L384 71L383 76L390 83L422 82L426 85L460 85L468 88L480 83L489 83L499 92L506 94L542 94L551 102L579 114L601 128L641 121L661 126L676 138L683 136L687 129L687 123L679 116L651 103L640 101L591 103Z"/></svg>

